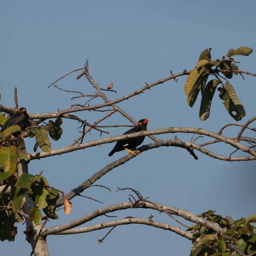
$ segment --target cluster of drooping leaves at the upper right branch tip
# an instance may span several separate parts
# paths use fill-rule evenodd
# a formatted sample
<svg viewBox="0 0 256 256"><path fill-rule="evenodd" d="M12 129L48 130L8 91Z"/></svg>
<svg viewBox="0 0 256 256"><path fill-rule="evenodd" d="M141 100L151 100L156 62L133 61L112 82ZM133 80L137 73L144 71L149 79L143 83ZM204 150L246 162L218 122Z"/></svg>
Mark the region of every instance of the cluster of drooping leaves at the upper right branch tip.
<svg viewBox="0 0 256 256"><path fill-rule="evenodd" d="M235 55L248 56L252 51L253 50L249 47L241 46L236 50L230 49L226 57L222 57L222 60L217 59L213 61L211 60L211 48L204 50L200 54L196 67L190 72L185 83L185 94L188 96L188 105L193 107L199 91L201 90L202 100L199 111L201 120L206 120L210 116L210 108L215 89L218 84L221 83L223 85L223 77L220 73L228 79L231 79L233 74L238 74L239 68L236 65L237 62L231 57ZM206 85L209 76L215 76L217 79L211 80L214 82L210 81ZM216 80L219 82L217 83ZM221 92L220 98L225 100L223 104L228 110L229 115L236 121L240 121L245 116L245 110L234 88L227 82L223 88L219 87L218 90Z"/></svg>

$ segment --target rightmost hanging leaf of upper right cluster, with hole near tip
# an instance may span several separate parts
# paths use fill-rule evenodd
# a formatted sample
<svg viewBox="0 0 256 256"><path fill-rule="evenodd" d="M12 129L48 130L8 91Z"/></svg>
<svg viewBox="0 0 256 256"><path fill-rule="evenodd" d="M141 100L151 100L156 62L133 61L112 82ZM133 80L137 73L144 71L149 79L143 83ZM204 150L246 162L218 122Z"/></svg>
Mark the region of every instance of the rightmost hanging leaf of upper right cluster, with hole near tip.
<svg viewBox="0 0 256 256"><path fill-rule="evenodd" d="M220 91L219 97L224 100L223 105L227 109L230 116L236 121L240 121L245 116L245 110L239 101L236 92L231 84L225 84L224 89L218 88Z"/></svg>

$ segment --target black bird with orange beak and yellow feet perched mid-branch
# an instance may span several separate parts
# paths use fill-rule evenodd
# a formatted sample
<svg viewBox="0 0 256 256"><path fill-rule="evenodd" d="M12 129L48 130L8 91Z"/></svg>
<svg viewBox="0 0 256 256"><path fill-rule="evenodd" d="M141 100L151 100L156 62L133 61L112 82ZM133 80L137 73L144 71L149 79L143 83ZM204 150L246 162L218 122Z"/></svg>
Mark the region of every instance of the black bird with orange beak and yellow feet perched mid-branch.
<svg viewBox="0 0 256 256"><path fill-rule="evenodd" d="M149 122L149 119L141 119L138 124L133 127L131 130L125 132L124 134L130 134L134 132L140 132L140 131L147 131L147 124ZM127 140L120 140L116 142L115 147L110 151L108 154L109 156L113 155L114 153L121 151L121 150L127 150L129 153L132 153L135 155L134 151L130 149L135 149L137 148L145 139L145 136L140 136L132 139L127 139ZM139 150L137 150L139 151Z"/></svg>

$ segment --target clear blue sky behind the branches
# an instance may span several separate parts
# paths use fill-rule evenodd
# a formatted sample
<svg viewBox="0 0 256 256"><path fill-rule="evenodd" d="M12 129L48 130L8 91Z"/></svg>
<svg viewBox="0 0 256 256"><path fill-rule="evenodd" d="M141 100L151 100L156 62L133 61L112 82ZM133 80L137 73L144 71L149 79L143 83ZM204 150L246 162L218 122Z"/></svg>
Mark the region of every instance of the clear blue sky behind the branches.
<svg viewBox="0 0 256 256"><path fill-rule="evenodd" d="M110 99L130 93L145 82L169 76L170 69L179 73L195 66L199 54L212 47L212 58L221 58L228 49L249 46L256 49L255 2L246 1L2 1L0 8L0 93L1 103L13 107L13 89L18 87L19 105L29 113L54 112L67 108L73 101L67 93L47 85L68 71L82 67L89 60L91 74L101 87L114 82L115 94ZM238 57L242 70L255 72L255 53ZM232 79L233 80L233 79ZM199 102L187 105L183 93L186 78L178 83L169 81L152 90L119 104L135 119L148 117L148 129L161 127L202 127L218 131L226 123L234 122L227 114L218 95L213 99L211 116L199 120ZM240 76L231 81L246 110L247 121L255 115L255 78ZM58 83L65 89L93 93L85 79L76 81L75 75ZM78 101L83 103L83 101ZM95 101L97 102L97 101ZM81 113L89 122L99 114ZM102 124L129 124L115 114ZM52 148L68 145L77 137L77 125L65 121L63 138L52 142ZM127 128L113 128L111 135L123 134ZM225 135L233 136L235 129ZM250 133L250 135L254 135ZM102 135L105 137L106 135ZM169 139L172 135L161 135ZM92 132L85 140L99 138ZM179 135L181 139L190 137ZM149 143L146 139L145 143ZM27 139L33 150L34 139ZM30 163L33 174L44 170L45 177L66 192L86 180L91 174L109 164L124 152L109 158L114 145L106 144L62 156ZM214 147L218 153L230 152ZM116 193L116 187L132 187L152 201L181 207L194 213L213 209L224 216L247 217L255 213L255 163L227 163L197 153L195 161L187 151L178 148L158 148L132 159L124 166L108 173L98 183L108 186L108 193L99 188L85 191L104 202L97 204L75 198L74 210L68 217L60 213L59 221L50 226L72 220L97 207L127 200L127 193ZM170 218L153 211L129 211L118 217L132 215L172 223ZM101 218L99 221L107 221ZM95 222L96 223L96 222ZM14 243L4 242L1 251L14 255L30 253L19 226ZM52 236L47 239L51 255L119 255L132 252L155 255L175 253L188 255L191 243L185 238L144 226L118 227L102 244L107 230L72 236Z"/></svg>

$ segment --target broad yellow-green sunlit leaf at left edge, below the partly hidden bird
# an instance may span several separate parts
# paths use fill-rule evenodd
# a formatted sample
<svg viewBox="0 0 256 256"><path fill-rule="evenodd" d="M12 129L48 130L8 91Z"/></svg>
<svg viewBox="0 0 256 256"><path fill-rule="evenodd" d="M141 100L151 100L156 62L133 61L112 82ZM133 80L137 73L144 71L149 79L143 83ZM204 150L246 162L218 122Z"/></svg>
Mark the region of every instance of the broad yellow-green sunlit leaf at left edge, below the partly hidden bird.
<svg viewBox="0 0 256 256"><path fill-rule="evenodd" d="M0 147L0 165L4 172L15 173L17 166L17 148L15 146Z"/></svg>

